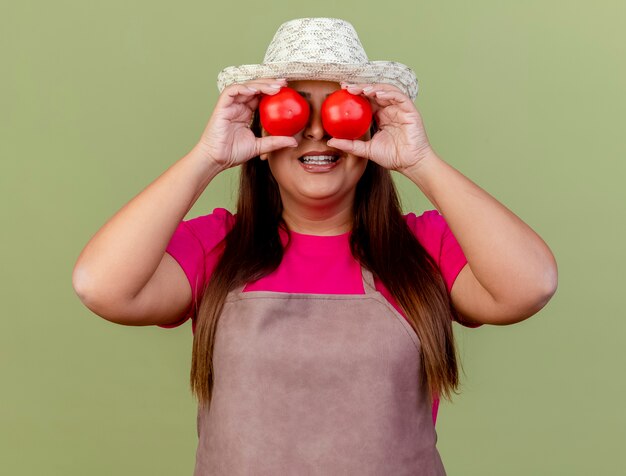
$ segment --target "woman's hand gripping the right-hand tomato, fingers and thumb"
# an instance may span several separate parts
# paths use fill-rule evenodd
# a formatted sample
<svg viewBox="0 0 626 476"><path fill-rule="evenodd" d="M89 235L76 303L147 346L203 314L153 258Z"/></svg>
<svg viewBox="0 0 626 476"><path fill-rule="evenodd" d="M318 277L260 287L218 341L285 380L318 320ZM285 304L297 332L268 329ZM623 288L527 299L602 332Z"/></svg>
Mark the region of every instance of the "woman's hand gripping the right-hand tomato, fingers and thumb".
<svg viewBox="0 0 626 476"><path fill-rule="evenodd" d="M400 89L382 83L341 83L341 87L370 100L378 131L368 141L333 138L328 141L329 146L398 172L414 167L432 153L422 116Z"/></svg>

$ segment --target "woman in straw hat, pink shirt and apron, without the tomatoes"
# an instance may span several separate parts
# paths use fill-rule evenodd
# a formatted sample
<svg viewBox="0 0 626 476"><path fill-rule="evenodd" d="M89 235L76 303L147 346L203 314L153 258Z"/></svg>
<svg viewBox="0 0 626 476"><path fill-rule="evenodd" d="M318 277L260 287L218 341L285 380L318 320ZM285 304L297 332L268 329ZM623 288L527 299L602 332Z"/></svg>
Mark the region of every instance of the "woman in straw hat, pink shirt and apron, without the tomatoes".
<svg viewBox="0 0 626 476"><path fill-rule="evenodd" d="M535 314L557 285L548 246L436 155L413 72L368 61L345 21L281 25L263 64L218 86L199 143L85 247L77 293L120 324L192 318L196 474L445 474L434 423L458 386L452 320ZM311 108L293 137L259 124L283 86ZM322 127L340 88L372 104L359 140ZM236 215L181 222L239 165ZM391 170L437 210L402 215Z"/></svg>

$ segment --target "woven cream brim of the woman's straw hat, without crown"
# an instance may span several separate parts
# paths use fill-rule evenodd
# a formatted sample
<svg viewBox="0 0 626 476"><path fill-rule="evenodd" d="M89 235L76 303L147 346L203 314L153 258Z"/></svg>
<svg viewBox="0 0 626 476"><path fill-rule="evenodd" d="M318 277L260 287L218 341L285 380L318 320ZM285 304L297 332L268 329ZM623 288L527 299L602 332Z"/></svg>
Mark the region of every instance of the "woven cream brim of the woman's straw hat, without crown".
<svg viewBox="0 0 626 476"><path fill-rule="evenodd" d="M286 62L229 66L218 74L217 87L221 93L231 84L260 78L388 83L399 88L411 100L415 100L418 91L413 70L395 61L370 61L362 64Z"/></svg>

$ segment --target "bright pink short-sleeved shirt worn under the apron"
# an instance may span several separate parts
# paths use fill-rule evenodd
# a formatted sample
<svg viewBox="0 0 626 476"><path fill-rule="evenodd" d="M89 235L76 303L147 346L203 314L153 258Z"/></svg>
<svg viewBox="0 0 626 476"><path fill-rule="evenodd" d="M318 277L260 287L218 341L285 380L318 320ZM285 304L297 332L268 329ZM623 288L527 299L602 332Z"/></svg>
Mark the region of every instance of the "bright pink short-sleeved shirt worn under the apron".
<svg viewBox="0 0 626 476"><path fill-rule="evenodd" d="M467 259L443 216L428 210L420 216L404 215L409 228L426 251L435 259L446 283L448 293ZM231 229L235 216L224 208L209 215L182 221L174 232L166 251L182 267L191 285L192 302L181 320L160 325L173 328L192 319L195 332L196 304L207 278L211 276L219 254L216 245ZM361 267L350 252L350 232L335 236L306 235L291 232L291 244L274 272L248 283L246 291L302 292L311 294L364 294ZM281 239L287 236L281 230ZM385 288L375 279L376 289L404 316L404 312ZM406 316L405 316L406 318ZM479 325L463 324L467 327ZM436 422L439 399L433 402L433 423Z"/></svg>

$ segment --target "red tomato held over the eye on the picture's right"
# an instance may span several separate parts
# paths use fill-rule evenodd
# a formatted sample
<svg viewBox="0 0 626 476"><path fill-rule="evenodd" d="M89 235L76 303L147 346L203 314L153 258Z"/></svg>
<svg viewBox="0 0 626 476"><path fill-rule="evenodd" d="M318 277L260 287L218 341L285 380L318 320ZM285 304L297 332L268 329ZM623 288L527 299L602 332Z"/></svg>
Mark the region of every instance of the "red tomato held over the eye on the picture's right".
<svg viewBox="0 0 626 476"><path fill-rule="evenodd" d="M372 106L363 96L345 89L335 91L322 103L322 125L337 139L358 139L372 123Z"/></svg>

